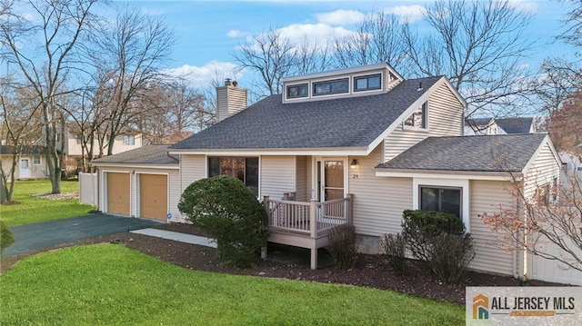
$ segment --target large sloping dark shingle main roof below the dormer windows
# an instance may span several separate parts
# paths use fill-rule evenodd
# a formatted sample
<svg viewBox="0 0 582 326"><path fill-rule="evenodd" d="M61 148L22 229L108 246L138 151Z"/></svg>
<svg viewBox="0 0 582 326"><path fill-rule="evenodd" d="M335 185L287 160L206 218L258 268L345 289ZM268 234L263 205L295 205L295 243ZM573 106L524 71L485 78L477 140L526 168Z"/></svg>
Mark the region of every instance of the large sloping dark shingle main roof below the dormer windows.
<svg viewBox="0 0 582 326"><path fill-rule="evenodd" d="M386 94L323 101L283 104L280 94L272 95L169 148L365 148L440 78L407 80Z"/></svg>

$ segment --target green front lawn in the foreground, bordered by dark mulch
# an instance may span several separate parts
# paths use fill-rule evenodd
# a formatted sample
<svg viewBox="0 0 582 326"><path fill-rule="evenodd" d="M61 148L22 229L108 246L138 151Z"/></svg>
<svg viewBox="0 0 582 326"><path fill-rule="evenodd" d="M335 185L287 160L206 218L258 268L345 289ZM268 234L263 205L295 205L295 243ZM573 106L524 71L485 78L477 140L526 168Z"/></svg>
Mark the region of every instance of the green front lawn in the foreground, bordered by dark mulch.
<svg viewBox="0 0 582 326"><path fill-rule="evenodd" d="M189 271L121 245L25 258L2 325L461 325L464 307L394 291Z"/></svg>

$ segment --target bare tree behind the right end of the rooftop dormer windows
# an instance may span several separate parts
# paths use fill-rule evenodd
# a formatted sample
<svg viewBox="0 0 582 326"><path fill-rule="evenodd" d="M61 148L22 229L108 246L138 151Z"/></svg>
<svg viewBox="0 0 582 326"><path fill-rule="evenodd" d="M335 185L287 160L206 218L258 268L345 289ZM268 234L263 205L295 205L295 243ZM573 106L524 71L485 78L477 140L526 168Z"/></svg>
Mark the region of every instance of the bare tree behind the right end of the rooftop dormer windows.
<svg viewBox="0 0 582 326"><path fill-rule="evenodd" d="M334 59L339 68L388 63L405 74L410 70L406 43L396 15L370 13L356 27L354 35L338 37Z"/></svg>

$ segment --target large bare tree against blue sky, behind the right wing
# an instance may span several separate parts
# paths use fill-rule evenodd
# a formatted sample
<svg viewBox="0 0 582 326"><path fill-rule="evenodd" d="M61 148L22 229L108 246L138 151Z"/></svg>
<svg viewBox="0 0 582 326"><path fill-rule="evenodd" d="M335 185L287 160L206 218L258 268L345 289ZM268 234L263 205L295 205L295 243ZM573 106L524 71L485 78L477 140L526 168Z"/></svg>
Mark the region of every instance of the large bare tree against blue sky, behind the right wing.
<svg viewBox="0 0 582 326"><path fill-rule="evenodd" d="M532 46L524 33L531 15L507 0L437 0L425 19L432 33L418 35L406 24L403 35L417 73L447 75L467 100L467 116L527 107L531 92L522 60Z"/></svg>

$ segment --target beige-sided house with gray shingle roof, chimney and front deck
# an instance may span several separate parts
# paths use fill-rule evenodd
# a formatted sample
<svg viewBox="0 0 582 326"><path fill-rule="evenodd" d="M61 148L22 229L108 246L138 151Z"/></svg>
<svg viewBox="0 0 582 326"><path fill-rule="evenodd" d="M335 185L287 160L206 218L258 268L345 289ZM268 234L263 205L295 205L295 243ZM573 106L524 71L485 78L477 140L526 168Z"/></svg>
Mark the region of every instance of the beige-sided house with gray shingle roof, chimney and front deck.
<svg viewBox="0 0 582 326"><path fill-rule="evenodd" d="M446 77L405 80L387 64L287 77L283 86L248 107L246 89L218 87L219 122L168 147L179 158L178 177L167 180L172 221L186 221L176 207L186 186L228 174L265 201L269 241L310 248L312 268L338 224L353 223L359 250L377 253L381 235L401 231L404 210L431 209L457 214L473 234L470 268L527 273L521 249L490 243L495 233L480 216L517 205L514 178L532 194L556 180L561 163L547 134L463 137L467 104ZM98 162L99 207L108 212L106 183L118 178L129 187L124 214L140 216L146 190L131 171L142 167L121 161ZM115 174L123 164L129 176Z"/></svg>

